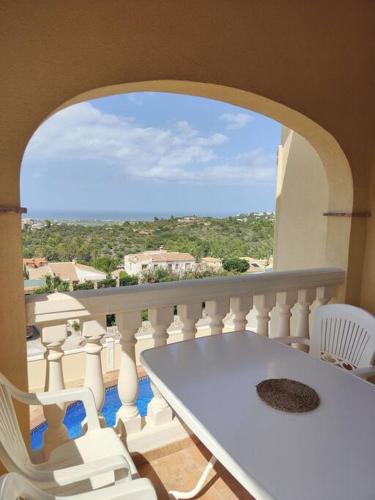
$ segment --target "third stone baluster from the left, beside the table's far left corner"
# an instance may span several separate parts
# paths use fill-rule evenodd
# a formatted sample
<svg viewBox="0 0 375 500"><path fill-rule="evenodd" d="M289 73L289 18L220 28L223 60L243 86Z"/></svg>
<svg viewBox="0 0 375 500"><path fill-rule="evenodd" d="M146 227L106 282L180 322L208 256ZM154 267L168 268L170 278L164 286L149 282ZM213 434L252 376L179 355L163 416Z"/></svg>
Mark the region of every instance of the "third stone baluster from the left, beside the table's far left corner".
<svg viewBox="0 0 375 500"><path fill-rule="evenodd" d="M139 432L142 423L136 405L138 373L135 359L135 334L142 324L141 311L116 313L116 323L121 345L118 393L122 403L116 416L116 429L124 439L128 434Z"/></svg>

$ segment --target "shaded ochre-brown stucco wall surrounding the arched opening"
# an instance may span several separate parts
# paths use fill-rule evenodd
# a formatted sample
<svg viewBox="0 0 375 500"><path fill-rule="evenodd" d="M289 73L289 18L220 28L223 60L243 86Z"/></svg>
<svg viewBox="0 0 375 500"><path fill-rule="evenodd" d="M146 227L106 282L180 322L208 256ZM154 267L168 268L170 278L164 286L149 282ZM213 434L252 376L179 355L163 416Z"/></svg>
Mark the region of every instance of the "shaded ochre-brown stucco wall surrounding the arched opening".
<svg viewBox="0 0 375 500"><path fill-rule="evenodd" d="M329 195L330 209L350 209L354 194L354 208L365 210L374 25L371 0L3 0L0 206L19 205L26 144L59 107L164 90L232 102L284 123L316 148L333 183L340 185L341 172L346 179L350 165L353 193L345 184L340 196ZM26 387L20 224L17 216L0 217L0 367ZM366 222L353 221L352 302L361 295L365 234ZM336 244L347 244L345 237ZM334 245L327 248L334 254Z"/></svg>

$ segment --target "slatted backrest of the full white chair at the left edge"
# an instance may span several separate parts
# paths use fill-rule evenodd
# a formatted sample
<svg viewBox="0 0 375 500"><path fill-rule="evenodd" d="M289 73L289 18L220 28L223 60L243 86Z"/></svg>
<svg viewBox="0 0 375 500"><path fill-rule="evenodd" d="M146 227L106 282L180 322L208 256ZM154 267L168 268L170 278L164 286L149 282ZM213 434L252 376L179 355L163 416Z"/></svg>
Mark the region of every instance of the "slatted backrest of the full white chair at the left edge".
<svg viewBox="0 0 375 500"><path fill-rule="evenodd" d="M13 405L13 397L22 394L0 374L0 460L9 471L32 467Z"/></svg>

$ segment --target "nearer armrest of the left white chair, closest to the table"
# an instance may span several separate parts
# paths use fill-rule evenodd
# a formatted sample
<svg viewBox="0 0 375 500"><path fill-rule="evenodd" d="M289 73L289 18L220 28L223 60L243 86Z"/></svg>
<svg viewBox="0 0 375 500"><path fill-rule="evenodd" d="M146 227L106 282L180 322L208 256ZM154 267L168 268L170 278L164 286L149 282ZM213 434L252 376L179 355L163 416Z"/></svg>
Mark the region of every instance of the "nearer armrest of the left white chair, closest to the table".
<svg viewBox="0 0 375 500"><path fill-rule="evenodd" d="M129 464L125 457L122 455L113 455L92 462L74 465L73 467L55 470L53 471L53 476L58 485L65 486L67 484L90 479L98 474L124 469L126 469L130 475Z"/></svg>

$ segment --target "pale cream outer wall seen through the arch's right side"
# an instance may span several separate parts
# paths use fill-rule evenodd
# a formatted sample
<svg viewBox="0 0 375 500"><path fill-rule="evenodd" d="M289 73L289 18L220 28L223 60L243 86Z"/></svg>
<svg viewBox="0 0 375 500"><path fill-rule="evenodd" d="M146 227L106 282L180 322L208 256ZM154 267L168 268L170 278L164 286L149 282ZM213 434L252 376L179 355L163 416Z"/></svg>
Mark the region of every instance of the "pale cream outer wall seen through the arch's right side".
<svg viewBox="0 0 375 500"><path fill-rule="evenodd" d="M299 134L282 129L278 154L274 269L326 265L328 184L315 149ZM337 265L342 265L340 257Z"/></svg>

